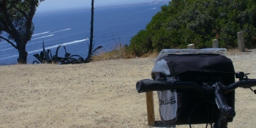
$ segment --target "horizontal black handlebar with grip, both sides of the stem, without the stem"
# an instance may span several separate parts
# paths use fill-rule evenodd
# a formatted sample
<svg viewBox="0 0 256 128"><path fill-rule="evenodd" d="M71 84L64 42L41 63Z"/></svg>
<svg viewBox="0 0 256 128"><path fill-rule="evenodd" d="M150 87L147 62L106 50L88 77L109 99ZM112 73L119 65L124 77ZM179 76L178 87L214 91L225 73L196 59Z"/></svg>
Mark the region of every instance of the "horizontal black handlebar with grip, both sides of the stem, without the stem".
<svg viewBox="0 0 256 128"><path fill-rule="evenodd" d="M224 87L225 93L233 91L238 87L249 88L256 86L256 79L246 79L239 80L236 83L232 83L229 86ZM172 89L194 89L202 93L207 93L212 91L213 88L203 87L197 83L192 82L181 82L177 80L163 81L163 80L139 80L136 83L136 89L138 93L148 92L148 91L162 91L162 90L172 90Z"/></svg>

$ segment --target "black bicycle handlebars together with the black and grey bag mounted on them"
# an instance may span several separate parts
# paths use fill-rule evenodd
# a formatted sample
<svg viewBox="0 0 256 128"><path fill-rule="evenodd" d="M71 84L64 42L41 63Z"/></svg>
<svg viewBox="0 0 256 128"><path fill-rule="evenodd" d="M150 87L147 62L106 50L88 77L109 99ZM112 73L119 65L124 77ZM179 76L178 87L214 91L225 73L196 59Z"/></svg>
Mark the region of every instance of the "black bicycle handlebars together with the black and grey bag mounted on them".
<svg viewBox="0 0 256 128"><path fill-rule="evenodd" d="M225 48L163 49L151 72L153 80L138 81L136 89L157 91L164 124L212 127L214 123L214 128L226 128L236 116L235 89L256 86L256 79L235 72L226 52Z"/></svg>

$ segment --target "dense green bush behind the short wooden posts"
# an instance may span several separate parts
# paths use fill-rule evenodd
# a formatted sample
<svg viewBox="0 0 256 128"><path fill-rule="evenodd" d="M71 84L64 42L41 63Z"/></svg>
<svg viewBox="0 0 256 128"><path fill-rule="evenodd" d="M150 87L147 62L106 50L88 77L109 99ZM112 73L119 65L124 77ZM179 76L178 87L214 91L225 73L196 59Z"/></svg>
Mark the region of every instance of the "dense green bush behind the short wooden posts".
<svg viewBox="0 0 256 128"><path fill-rule="evenodd" d="M246 48L256 46L256 1L254 0L172 0L163 6L145 30L132 37L129 50L142 56L164 48L236 48L237 32L244 31Z"/></svg>

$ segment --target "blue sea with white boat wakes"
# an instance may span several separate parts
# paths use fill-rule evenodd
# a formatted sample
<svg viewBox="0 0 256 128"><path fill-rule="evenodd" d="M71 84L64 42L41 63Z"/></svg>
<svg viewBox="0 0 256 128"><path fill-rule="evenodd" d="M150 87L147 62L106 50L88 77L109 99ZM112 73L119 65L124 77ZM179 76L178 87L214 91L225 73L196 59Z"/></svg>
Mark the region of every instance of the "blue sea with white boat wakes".
<svg viewBox="0 0 256 128"><path fill-rule="evenodd" d="M167 3L165 3L167 4ZM116 45L129 45L130 39L145 29L151 18L165 4L142 4L125 7L105 7L94 10L94 48L101 45L102 51L110 51ZM55 55L59 45L67 52L86 58L89 48L91 10L45 12L34 15L34 33L26 45L28 63L37 60L33 55L50 49ZM16 64L18 50L9 43L0 42L0 65ZM59 51L64 56L64 48Z"/></svg>

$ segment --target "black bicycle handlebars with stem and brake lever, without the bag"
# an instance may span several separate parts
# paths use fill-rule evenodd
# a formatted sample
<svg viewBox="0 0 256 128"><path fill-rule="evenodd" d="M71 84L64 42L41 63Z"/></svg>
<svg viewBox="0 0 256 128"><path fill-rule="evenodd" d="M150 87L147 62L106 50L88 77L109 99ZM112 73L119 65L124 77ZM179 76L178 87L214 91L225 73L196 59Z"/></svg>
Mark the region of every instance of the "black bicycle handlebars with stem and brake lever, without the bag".
<svg viewBox="0 0 256 128"><path fill-rule="evenodd" d="M233 118L236 116L236 111L234 108L227 104L224 94L227 94L230 91L234 91L238 87L244 89L251 89L253 86L256 86L256 79L249 79L248 74L244 72L236 72L236 78L238 82L232 83L229 86L225 86L223 83L217 82L209 86L200 86L197 83L193 82L181 82L178 80L139 80L136 83L136 89L139 93L147 91L162 91L162 90L173 90L173 89L193 89L200 94L203 94L207 98L210 98L212 94L215 96L215 103L219 108L220 114L216 122L210 122L211 127L214 123L214 128L227 128L227 123L232 122ZM256 94L256 90L252 90ZM193 113L193 112L191 112ZM191 115L190 115L191 116ZM189 117L189 127L191 127L190 117ZM207 127L207 124L206 124Z"/></svg>

